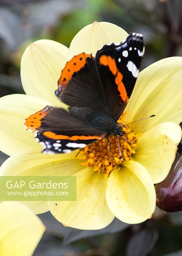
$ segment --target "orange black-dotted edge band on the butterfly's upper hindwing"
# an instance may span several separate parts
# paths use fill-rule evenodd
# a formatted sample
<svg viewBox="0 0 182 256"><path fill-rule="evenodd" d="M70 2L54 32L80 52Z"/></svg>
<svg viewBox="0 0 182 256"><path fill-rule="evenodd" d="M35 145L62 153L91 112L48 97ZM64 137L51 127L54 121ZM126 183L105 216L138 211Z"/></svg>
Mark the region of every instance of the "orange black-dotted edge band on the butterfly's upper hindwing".
<svg viewBox="0 0 182 256"><path fill-rule="evenodd" d="M71 60L69 60L65 67L61 71L61 75L58 79L58 88L60 86L64 87L67 85L71 77L75 72L78 72L81 68L83 68L86 64L86 59L93 58L91 53L82 52L78 55L75 55Z"/></svg>

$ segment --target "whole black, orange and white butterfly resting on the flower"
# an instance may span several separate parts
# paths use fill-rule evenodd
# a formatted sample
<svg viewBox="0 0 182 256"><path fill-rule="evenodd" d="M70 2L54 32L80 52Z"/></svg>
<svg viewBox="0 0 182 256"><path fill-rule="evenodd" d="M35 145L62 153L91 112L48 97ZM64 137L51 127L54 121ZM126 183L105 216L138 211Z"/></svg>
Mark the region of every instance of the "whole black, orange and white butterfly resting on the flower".
<svg viewBox="0 0 182 256"><path fill-rule="evenodd" d="M144 54L143 36L130 33L96 55L82 52L61 71L56 97L68 108L46 106L25 120L44 153L69 153L108 136L124 136L117 120L130 99Z"/></svg>

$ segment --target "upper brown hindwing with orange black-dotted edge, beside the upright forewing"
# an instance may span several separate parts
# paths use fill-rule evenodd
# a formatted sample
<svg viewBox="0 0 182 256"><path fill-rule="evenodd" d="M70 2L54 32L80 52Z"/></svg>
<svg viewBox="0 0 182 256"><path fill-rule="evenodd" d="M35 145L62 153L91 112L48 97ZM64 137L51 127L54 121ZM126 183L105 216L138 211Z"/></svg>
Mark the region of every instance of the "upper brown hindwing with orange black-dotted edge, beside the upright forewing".
<svg viewBox="0 0 182 256"><path fill-rule="evenodd" d="M55 95L71 107L104 111L106 102L95 56L82 52L69 60L61 71Z"/></svg>

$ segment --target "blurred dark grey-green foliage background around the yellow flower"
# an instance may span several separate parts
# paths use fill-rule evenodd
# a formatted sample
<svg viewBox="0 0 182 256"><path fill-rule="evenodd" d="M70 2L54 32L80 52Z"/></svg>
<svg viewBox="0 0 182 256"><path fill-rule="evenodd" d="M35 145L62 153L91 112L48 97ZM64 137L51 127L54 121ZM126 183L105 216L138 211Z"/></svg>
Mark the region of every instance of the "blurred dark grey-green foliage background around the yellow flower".
<svg viewBox="0 0 182 256"><path fill-rule="evenodd" d="M182 56L181 0L0 0L0 97L24 93L20 60L28 44L46 38L69 47L75 34L94 20L144 35L142 69ZM0 152L0 165L7 157ZM34 256L182 256L181 212L157 208L143 224L115 219L99 231L64 228L49 213L39 217L47 231Z"/></svg>

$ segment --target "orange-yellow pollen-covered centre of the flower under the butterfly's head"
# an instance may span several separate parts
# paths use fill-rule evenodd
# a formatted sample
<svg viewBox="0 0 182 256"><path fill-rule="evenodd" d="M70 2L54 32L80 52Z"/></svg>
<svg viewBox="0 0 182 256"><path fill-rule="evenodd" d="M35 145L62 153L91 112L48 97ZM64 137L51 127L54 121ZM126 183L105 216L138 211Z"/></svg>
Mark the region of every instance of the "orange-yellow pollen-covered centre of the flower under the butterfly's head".
<svg viewBox="0 0 182 256"><path fill-rule="evenodd" d="M127 142L123 137L118 137L122 157L120 156L118 141L116 136L109 136L110 153L107 149L107 139L103 138L97 140L92 144L87 145L81 150L81 157L85 166L93 167L93 171L103 172L107 176L115 169L116 165L122 164L123 161L129 161L132 154L135 154L135 147L137 146L137 137L141 134L135 134L130 129L130 125L124 121L126 118L126 111L117 121L121 125L121 129L125 132L124 137L130 141ZM128 122L129 123L129 122Z"/></svg>

